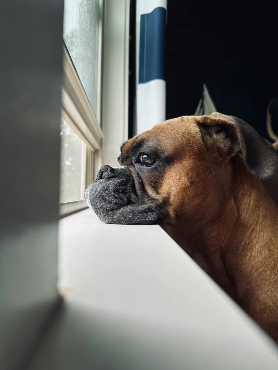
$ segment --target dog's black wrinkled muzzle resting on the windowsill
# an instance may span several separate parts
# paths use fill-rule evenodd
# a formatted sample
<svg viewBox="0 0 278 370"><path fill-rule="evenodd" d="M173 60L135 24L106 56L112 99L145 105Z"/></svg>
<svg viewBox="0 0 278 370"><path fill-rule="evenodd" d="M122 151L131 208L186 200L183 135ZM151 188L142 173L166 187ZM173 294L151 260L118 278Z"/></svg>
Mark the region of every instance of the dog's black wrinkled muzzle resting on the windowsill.
<svg viewBox="0 0 278 370"><path fill-rule="evenodd" d="M166 212L141 187L142 184L135 187L127 166L113 168L106 165L101 167L95 182L86 190L86 201L105 223L162 223Z"/></svg>

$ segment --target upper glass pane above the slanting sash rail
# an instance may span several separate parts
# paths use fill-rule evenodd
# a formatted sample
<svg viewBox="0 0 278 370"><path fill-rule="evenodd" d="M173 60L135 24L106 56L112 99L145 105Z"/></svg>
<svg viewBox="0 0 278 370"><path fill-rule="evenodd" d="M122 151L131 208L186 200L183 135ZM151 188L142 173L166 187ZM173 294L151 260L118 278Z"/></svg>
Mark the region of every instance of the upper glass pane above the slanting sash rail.
<svg viewBox="0 0 278 370"><path fill-rule="evenodd" d="M64 41L96 115L98 0L65 0L64 4Z"/></svg>

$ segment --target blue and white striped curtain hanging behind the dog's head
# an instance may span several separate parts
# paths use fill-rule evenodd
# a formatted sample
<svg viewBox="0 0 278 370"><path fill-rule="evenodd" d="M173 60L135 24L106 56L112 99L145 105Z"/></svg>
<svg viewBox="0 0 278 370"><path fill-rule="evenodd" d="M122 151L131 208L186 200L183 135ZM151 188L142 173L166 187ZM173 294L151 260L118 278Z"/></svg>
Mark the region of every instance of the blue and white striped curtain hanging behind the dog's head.
<svg viewBox="0 0 278 370"><path fill-rule="evenodd" d="M137 0L135 134L166 119L167 0Z"/></svg>

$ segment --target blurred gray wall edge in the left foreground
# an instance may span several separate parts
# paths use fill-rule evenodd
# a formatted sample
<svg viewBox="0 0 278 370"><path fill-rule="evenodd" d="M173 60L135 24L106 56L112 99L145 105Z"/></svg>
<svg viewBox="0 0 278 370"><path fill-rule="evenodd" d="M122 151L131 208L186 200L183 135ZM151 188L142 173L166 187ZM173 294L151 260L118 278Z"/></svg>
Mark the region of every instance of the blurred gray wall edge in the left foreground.
<svg viewBox="0 0 278 370"><path fill-rule="evenodd" d="M58 301L63 0L0 3L0 368Z"/></svg>

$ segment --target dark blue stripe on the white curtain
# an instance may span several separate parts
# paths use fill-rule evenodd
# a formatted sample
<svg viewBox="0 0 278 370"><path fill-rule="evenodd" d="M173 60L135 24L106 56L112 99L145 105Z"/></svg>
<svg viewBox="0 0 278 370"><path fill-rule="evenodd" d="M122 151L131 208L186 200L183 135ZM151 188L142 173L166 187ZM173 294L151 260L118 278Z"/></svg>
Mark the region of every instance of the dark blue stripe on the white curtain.
<svg viewBox="0 0 278 370"><path fill-rule="evenodd" d="M166 9L143 14L140 22L139 83L165 80Z"/></svg>

